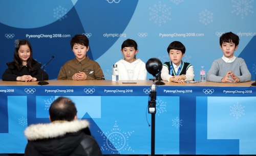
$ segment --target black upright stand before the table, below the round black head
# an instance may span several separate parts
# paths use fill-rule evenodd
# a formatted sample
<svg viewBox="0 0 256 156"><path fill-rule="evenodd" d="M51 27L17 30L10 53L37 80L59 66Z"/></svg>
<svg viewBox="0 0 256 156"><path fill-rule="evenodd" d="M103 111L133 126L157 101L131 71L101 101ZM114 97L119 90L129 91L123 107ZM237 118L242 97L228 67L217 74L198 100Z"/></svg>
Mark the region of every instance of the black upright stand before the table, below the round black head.
<svg viewBox="0 0 256 156"><path fill-rule="evenodd" d="M148 101L148 113L151 113L151 156L155 156L155 117L156 117L156 98L157 98L157 86L155 84L155 80L157 77L154 76L153 84L151 85L151 92L150 92L150 100Z"/></svg>

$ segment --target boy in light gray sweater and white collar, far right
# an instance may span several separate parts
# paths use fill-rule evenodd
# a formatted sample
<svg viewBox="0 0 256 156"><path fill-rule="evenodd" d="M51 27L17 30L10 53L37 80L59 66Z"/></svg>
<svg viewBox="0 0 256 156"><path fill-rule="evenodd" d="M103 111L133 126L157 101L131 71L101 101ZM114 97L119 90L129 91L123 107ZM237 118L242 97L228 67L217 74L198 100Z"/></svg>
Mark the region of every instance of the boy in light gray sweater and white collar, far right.
<svg viewBox="0 0 256 156"><path fill-rule="evenodd" d="M220 37L220 46L223 57L215 60L207 73L207 81L211 82L247 82L251 81L251 74L244 59L234 56L238 49L239 37L232 32Z"/></svg>

